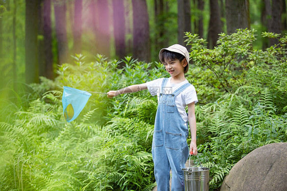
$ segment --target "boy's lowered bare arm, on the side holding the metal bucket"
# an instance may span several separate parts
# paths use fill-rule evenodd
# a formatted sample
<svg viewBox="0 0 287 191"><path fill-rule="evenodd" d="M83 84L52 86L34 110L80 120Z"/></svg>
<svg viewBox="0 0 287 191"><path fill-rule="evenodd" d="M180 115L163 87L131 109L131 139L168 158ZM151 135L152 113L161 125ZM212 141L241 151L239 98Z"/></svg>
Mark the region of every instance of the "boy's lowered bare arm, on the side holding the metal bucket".
<svg viewBox="0 0 287 191"><path fill-rule="evenodd" d="M192 142L190 143L189 153L193 151L193 155L197 155L195 102L189 103L187 106L190 134L192 134Z"/></svg>

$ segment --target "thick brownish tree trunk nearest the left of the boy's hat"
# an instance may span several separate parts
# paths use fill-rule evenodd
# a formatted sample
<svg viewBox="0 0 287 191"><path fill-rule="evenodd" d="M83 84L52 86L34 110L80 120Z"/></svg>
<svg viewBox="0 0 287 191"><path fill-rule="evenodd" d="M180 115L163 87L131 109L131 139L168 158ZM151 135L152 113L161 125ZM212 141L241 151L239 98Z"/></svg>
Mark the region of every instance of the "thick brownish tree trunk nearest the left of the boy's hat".
<svg viewBox="0 0 287 191"><path fill-rule="evenodd" d="M132 0L133 6L133 57L151 61L150 26L146 0Z"/></svg>

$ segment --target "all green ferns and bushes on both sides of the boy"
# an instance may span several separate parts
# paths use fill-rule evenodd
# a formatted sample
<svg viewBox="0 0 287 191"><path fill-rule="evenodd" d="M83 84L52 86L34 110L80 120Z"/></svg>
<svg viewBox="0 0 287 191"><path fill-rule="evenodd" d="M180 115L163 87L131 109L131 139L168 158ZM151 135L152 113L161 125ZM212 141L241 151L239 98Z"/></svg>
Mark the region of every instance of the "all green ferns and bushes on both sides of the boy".
<svg viewBox="0 0 287 191"><path fill-rule="evenodd" d="M187 33L194 64L186 77L200 100L198 150L210 168L210 190L218 190L252 150L287 141L287 38L256 50L253 33L221 34L212 50ZM80 116L66 123L62 86L107 92L164 77L164 67L131 57L117 61L97 55L86 62L76 54L74 59L59 66L55 81L41 78L41 84L27 85L27 94L1 91L0 189L152 190L156 98L148 91L114 99L93 94ZM124 67L118 69L120 63Z"/></svg>

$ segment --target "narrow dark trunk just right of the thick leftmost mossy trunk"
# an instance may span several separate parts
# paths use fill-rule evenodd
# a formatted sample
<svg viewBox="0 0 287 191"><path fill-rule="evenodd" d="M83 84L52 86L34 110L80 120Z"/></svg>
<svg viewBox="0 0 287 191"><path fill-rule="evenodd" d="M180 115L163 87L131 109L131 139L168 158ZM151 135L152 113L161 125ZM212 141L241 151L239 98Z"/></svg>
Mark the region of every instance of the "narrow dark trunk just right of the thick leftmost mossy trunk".
<svg viewBox="0 0 287 191"><path fill-rule="evenodd" d="M52 28L51 28L51 0L43 2L43 36L44 36L44 65L45 76L54 79Z"/></svg>

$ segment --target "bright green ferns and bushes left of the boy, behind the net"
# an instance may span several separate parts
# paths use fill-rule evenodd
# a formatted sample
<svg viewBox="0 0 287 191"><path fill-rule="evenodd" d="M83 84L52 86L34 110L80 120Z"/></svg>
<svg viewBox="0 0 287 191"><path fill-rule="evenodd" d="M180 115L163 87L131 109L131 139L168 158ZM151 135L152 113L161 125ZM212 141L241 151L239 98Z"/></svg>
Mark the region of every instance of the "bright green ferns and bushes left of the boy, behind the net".
<svg viewBox="0 0 287 191"><path fill-rule="evenodd" d="M123 69L117 69L120 61L101 55L91 63L81 54L74 59L60 66L55 81L42 78L31 85L27 106L21 107L25 99L17 105L5 100L15 107L0 123L0 189L151 190L156 98L147 91L116 99L92 95L78 119L66 123L62 86L107 92L160 77L163 67L150 75L151 64L130 57Z"/></svg>

